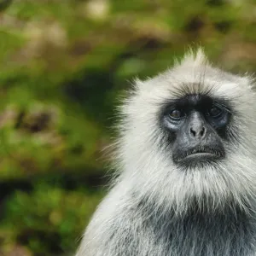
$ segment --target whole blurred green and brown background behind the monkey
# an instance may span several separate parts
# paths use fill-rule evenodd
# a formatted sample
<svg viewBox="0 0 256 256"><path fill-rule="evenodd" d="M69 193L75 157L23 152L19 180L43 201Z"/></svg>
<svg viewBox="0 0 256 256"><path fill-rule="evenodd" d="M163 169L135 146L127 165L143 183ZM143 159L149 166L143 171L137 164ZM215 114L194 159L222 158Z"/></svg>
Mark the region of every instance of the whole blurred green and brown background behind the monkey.
<svg viewBox="0 0 256 256"><path fill-rule="evenodd" d="M0 0L0 255L73 255L105 192L114 106L203 45L256 67L254 0Z"/></svg>

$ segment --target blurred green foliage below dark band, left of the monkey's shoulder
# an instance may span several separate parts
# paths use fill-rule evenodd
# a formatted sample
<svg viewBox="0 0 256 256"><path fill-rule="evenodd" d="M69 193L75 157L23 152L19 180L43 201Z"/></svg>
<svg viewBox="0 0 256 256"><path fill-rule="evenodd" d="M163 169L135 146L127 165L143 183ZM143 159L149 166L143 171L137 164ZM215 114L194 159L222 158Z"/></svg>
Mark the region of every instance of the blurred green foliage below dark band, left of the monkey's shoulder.
<svg viewBox="0 0 256 256"><path fill-rule="evenodd" d="M20 241L37 255L68 252L70 241L78 241L80 227L86 224L101 196L83 192L38 184L31 195L18 192L10 196L0 232L5 249L11 241ZM9 230L13 232L9 234Z"/></svg>

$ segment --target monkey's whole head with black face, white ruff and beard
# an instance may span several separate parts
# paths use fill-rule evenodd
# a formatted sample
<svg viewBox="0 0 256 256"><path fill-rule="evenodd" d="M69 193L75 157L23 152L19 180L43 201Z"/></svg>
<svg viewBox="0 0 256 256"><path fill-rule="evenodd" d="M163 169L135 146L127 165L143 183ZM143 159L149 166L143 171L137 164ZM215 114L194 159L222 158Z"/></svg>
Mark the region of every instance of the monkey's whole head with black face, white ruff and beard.
<svg viewBox="0 0 256 256"><path fill-rule="evenodd" d="M212 67L201 49L136 81L121 108L121 178L176 212L247 208L256 195L256 96L249 77ZM128 182L129 181L129 182Z"/></svg>

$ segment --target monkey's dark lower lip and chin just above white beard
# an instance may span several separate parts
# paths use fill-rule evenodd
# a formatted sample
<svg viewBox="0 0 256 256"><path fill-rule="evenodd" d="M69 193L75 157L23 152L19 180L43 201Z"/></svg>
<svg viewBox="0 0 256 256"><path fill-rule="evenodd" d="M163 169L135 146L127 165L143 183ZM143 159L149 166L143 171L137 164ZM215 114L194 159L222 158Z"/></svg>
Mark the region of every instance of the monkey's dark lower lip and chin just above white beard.
<svg viewBox="0 0 256 256"><path fill-rule="evenodd" d="M197 167L197 166L205 166L205 165L215 165L219 160L223 159L223 156L220 154L212 154L212 153L195 153L189 154L182 159L177 160L177 165L184 167Z"/></svg>

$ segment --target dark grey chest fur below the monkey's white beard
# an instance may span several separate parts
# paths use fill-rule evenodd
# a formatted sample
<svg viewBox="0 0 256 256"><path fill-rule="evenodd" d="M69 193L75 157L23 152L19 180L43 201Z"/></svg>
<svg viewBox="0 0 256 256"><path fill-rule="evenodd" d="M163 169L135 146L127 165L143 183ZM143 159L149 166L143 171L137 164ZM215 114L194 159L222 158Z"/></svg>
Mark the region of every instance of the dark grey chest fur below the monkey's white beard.
<svg viewBox="0 0 256 256"><path fill-rule="evenodd" d="M230 206L215 212L192 207L183 216L177 216L162 210L151 214L147 224L153 228L158 241L167 245L170 253L166 255L254 255L256 218L252 212Z"/></svg>

